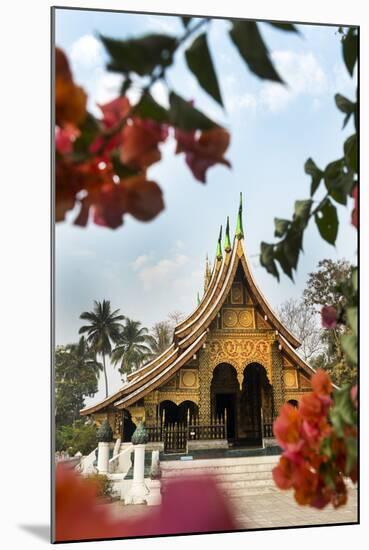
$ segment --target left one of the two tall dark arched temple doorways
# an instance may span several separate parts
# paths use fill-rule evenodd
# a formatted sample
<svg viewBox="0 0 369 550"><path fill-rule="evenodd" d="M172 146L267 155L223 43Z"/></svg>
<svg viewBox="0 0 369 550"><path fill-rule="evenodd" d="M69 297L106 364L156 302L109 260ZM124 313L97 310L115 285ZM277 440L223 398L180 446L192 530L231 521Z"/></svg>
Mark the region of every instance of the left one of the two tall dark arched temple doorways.
<svg viewBox="0 0 369 550"><path fill-rule="evenodd" d="M233 443L237 433L237 401L239 384L237 371L229 363L220 363L213 371L210 388L211 418L227 420L227 439Z"/></svg>

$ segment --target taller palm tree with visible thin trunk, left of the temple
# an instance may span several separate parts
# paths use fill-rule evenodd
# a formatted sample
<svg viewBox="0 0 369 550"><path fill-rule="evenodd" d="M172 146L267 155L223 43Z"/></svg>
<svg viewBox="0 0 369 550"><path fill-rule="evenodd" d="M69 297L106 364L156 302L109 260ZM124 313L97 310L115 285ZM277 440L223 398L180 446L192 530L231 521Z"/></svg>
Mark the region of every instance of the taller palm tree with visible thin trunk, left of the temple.
<svg viewBox="0 0 369 550"><path fill-rule="evenodd" d="M108 377L106 374L106 355L111 355L112 342L117 342L125 318L124 315L118 315L119 309L111 311L110 301L94 301L93 311L84 311L80 319L88 321L89 324L79 329L79 334L87 333L87 342L94 348L96 354L102 356L103 370L105 377L105 395L108 397Z"/></svg>

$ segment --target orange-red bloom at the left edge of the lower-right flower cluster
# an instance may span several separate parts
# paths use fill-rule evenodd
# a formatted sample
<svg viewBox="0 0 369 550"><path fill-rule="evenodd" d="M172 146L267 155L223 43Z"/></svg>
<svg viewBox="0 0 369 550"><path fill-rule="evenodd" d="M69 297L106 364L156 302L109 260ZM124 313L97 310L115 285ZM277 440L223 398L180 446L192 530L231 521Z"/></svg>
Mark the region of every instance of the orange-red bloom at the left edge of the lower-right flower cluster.
<svg viewBox="0 0 369 550"><path fill-rule="evenodd" d="M301 426L299 409L285 403L273 424L274 435L282 449L294 452L301 448Z"/></svg>

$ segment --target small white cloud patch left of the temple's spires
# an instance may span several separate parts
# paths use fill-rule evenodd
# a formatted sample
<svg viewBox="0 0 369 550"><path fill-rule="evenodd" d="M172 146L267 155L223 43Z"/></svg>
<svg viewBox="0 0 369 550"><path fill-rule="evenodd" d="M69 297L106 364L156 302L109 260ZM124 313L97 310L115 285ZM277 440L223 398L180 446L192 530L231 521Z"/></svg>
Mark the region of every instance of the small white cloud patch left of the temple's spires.
<svg viewBox="0 0 369 550"><path fill-rule="evenodd" d="M165 285L173 286L188 262L187 256L176 254L173 258L163 258L152 265L144 265L138 275L143 282L144 290L164 288Z"/></svg>

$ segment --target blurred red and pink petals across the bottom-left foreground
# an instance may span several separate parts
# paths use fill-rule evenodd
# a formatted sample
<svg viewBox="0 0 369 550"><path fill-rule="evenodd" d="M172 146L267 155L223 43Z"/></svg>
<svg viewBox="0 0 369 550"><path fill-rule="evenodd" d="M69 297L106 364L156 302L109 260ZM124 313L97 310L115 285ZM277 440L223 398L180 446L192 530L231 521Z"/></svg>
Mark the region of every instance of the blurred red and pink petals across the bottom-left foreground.
<svg viewBox="0 0 369 550"><path fill-rule="evenodd" d="M237 529L231 509L215 482L182 478L166 485L161 506L137 519L116 519L97 499L97 487L73 470L57 465L55 480L57 542Z"/></svg>

